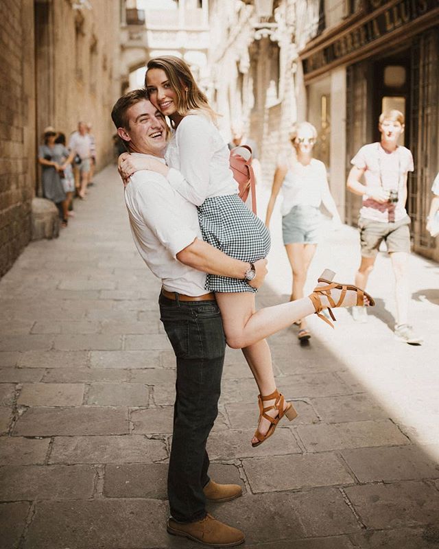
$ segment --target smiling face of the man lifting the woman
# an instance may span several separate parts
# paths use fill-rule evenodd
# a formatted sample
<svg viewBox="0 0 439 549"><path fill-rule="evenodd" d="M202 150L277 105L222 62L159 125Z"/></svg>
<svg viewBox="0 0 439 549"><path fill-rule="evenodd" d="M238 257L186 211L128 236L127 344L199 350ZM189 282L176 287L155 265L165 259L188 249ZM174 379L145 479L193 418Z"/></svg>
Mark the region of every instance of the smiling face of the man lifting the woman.
<svg viewBox="0 0 439 549"><path fill-rule="evenodd" d="M126 111L128 128L118 128L119 136L128 141L131 152L163 156L166 148L165 117L148 100L141 100Z"/></svg>

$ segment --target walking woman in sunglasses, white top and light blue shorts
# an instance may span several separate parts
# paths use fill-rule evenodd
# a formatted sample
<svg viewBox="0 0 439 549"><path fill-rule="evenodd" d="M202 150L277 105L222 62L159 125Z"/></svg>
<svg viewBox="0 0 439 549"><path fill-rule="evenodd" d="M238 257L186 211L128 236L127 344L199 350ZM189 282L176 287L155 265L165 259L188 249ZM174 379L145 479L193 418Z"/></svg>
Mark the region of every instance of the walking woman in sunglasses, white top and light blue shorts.
<svg viewBox="0 0 439 549"><path fill-rule="evenodd" d="M337 224L342 221L329 191L326 167L320 160L313 159L316 128L309 122L302 122L294 127L290 139L294 149L278 159L265 225L270 225L274 204L282 189L283 244L292 268L290 301L294 301L303 297L308 268L316 253L320 236L320 205L324 205ZM306 319L302 318L298 324L299 340L308 340L311 334Z"/></svg>

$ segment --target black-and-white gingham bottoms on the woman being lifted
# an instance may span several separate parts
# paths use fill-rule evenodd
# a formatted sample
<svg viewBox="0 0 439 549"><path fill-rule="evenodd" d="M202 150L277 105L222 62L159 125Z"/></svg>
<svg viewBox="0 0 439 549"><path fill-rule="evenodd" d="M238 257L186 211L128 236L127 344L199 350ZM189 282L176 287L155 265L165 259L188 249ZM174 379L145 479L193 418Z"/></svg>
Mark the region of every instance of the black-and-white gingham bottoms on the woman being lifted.
<svg viewBox="0 0 439 549"><path fill-rule="evenodd" d="M268 255L270 232L237 194L206 198L198 207L203 240L226 255L254 262ZM211 292L256 292L245 280L208 274Z"/></svg>

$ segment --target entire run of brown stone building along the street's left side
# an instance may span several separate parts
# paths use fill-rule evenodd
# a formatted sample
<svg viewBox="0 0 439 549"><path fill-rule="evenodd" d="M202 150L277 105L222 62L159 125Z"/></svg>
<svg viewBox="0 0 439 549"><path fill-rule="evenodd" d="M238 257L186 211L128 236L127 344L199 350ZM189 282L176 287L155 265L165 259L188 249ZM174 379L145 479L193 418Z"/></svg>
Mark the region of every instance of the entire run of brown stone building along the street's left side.
<svg viewBox="0 0 439 549"><path fill-rule="evenodd" d="M31 237L43 128L68 137L89 121L98 169L112 159L119 9L106 0L0 2L0 276Z"/></svg>

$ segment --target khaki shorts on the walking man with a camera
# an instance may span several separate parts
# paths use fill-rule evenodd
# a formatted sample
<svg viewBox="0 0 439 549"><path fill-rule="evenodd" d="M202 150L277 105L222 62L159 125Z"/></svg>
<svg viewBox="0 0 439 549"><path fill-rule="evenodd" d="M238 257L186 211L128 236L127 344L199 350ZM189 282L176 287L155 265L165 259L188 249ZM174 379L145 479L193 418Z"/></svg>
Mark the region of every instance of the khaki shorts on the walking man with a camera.
<svg viewBox="0 0 439 549"><path fill-rule="evenodd" d="M359 218L358 229L362 257L377 257L379 245L384 240L388 253L410 253L410 217L401 221L381 222Z"/></svg>

